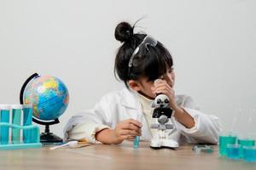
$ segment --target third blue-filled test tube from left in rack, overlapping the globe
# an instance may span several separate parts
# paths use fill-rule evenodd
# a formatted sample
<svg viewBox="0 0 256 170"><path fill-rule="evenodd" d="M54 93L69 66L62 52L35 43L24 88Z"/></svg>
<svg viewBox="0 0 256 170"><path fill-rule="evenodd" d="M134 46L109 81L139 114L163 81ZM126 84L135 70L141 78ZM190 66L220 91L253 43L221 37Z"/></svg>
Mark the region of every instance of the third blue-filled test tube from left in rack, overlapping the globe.
<svg viewBox="0 0 256 170"><path fill-rule="evenodd" d="M32 125L32 105L23 105L23 126ZM31 143L31 130L23 130L23 142Z"/></svg>

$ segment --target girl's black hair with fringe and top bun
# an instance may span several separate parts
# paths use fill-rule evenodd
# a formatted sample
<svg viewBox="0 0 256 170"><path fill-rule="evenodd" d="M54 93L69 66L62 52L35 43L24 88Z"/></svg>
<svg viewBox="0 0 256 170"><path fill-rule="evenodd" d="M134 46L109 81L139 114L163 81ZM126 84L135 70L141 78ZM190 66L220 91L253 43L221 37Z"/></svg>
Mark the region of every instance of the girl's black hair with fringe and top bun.
<svg viewBox="0 0 256 170"><path fill-rule="evenodd" d="M134 56L133 65L129 69L131 55L137 46L143 42L144 37L147 36L146 34L134 34L133 30L134 26L127 22L121 22L114 31L115 39L123 42L116 54L114 73L115 77L118 75L119 79L125 82L127 88L129 80L147 77L149 82L160 78L173 64L172 55L163 44L157 42L155 47L147 46L148 50L139 50L139 53Z"/></svg>

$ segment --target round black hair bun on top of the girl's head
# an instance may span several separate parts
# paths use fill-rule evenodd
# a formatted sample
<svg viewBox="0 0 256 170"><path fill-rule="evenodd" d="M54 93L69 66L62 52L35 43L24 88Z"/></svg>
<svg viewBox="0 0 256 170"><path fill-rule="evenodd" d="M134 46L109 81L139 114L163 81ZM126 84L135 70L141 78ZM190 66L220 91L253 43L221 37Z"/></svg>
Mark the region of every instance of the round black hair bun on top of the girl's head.
<svg viewBox="0 0 256 170"><path fill-rule="evenodd" d="M115 27L114 37L120 42L126 42L133 36L133 28L127 22L121 22Z"/></svg>

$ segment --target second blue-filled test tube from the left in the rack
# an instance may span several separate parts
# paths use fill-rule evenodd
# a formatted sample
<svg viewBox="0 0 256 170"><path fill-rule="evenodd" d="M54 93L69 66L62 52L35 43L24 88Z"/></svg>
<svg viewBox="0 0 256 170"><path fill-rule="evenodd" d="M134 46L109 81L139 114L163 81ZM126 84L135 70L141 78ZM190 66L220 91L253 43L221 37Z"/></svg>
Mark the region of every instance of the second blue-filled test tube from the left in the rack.
<svg viewBox="0 0 256 170"><path fill-rule="evenodd" d="M12 105L12 123L20 126L20 116L22 105ZM12 143L19 144L20 143L20 128L12 129Z"/></svg>

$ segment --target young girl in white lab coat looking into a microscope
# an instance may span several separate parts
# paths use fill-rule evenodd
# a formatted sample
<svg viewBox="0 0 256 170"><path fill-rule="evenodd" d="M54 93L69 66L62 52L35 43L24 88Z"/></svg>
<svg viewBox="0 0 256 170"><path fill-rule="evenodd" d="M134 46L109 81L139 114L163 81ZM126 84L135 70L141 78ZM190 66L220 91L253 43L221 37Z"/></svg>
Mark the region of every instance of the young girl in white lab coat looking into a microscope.
<svg viewBox="0 0 256 170"><path fill-rule="evenodd" d="M151 103L156 94L166 94L173 110L174 129L167 130L170 139L179 144L217 144L218 117L198 111L189 96L175 95L171 54L153 37L135 34L133 28L121 22L114 33L123 42L114 70L126 88L102 97L94 109L73 116L64 129L65 139L103 144L119 144L136 136L150 140L155 133L150 128L154 123Z"/></svg>

